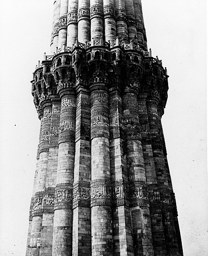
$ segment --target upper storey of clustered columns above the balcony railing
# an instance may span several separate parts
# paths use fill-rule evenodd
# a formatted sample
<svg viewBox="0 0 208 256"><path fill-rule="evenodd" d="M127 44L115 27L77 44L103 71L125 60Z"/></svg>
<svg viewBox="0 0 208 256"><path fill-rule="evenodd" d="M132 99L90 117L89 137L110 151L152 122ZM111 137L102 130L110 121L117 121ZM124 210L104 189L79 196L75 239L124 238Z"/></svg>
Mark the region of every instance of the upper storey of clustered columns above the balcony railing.
<svg viewBox="0 0 208 256"><path fill-rule="evenodd" d="M55 0L51 50L99 40L139 44L147 51L141 0Z"/></svg>

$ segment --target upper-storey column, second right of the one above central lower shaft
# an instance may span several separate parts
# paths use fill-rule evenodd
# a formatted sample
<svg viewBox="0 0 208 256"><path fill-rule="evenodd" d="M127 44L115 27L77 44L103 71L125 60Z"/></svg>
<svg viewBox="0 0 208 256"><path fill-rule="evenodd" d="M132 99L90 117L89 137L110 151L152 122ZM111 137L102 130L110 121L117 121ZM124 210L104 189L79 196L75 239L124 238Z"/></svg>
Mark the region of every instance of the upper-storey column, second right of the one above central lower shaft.
<svg viewBox="0 0 208 256"><path fill-rule="evenodd" d="M115 1L115 14L116 14L116 33L119 40L124 41L125 44L128 44L128 29L126 23L126 9L125 9L125 0Z"/></svg>

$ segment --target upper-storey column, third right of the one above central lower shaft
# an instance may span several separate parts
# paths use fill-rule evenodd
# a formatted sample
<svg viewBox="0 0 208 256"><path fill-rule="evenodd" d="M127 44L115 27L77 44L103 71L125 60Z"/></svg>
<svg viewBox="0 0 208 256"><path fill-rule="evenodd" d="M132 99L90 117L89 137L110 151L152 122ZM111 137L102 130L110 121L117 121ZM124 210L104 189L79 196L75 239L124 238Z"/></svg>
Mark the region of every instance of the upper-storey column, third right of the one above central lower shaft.
<svg viewBox="0 0 208 256"><path fill-rule="evenodd" d="M125 0L129 41L137 43L136 19L133 0Z"/></svg>

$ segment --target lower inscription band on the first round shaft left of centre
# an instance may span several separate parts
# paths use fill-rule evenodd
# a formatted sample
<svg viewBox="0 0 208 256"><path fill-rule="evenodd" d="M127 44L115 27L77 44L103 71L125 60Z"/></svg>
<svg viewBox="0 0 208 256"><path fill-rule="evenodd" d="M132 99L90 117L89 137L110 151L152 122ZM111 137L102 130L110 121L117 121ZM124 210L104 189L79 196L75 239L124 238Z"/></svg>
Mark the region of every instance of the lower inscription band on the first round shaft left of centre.
<svg viewBox="0 0 208 256"><path fill-rule="evenodd" d="M73 186L70 183L56 185L54 210L68 208L72 209Z"/></svg>

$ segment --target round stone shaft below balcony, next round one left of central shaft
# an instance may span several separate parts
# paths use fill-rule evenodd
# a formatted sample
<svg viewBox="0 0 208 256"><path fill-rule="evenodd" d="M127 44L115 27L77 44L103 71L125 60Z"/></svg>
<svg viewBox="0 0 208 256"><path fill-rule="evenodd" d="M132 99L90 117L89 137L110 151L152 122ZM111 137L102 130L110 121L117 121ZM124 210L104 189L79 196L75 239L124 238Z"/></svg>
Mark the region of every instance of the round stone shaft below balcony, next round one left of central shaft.
<svg viewBox="0 0 208 256"><path fill-rule="evenodd" d="M76 97L62 89L58 138L58 168L54 205L52 255L72 255L72 196L75 154Z"/></svg>

